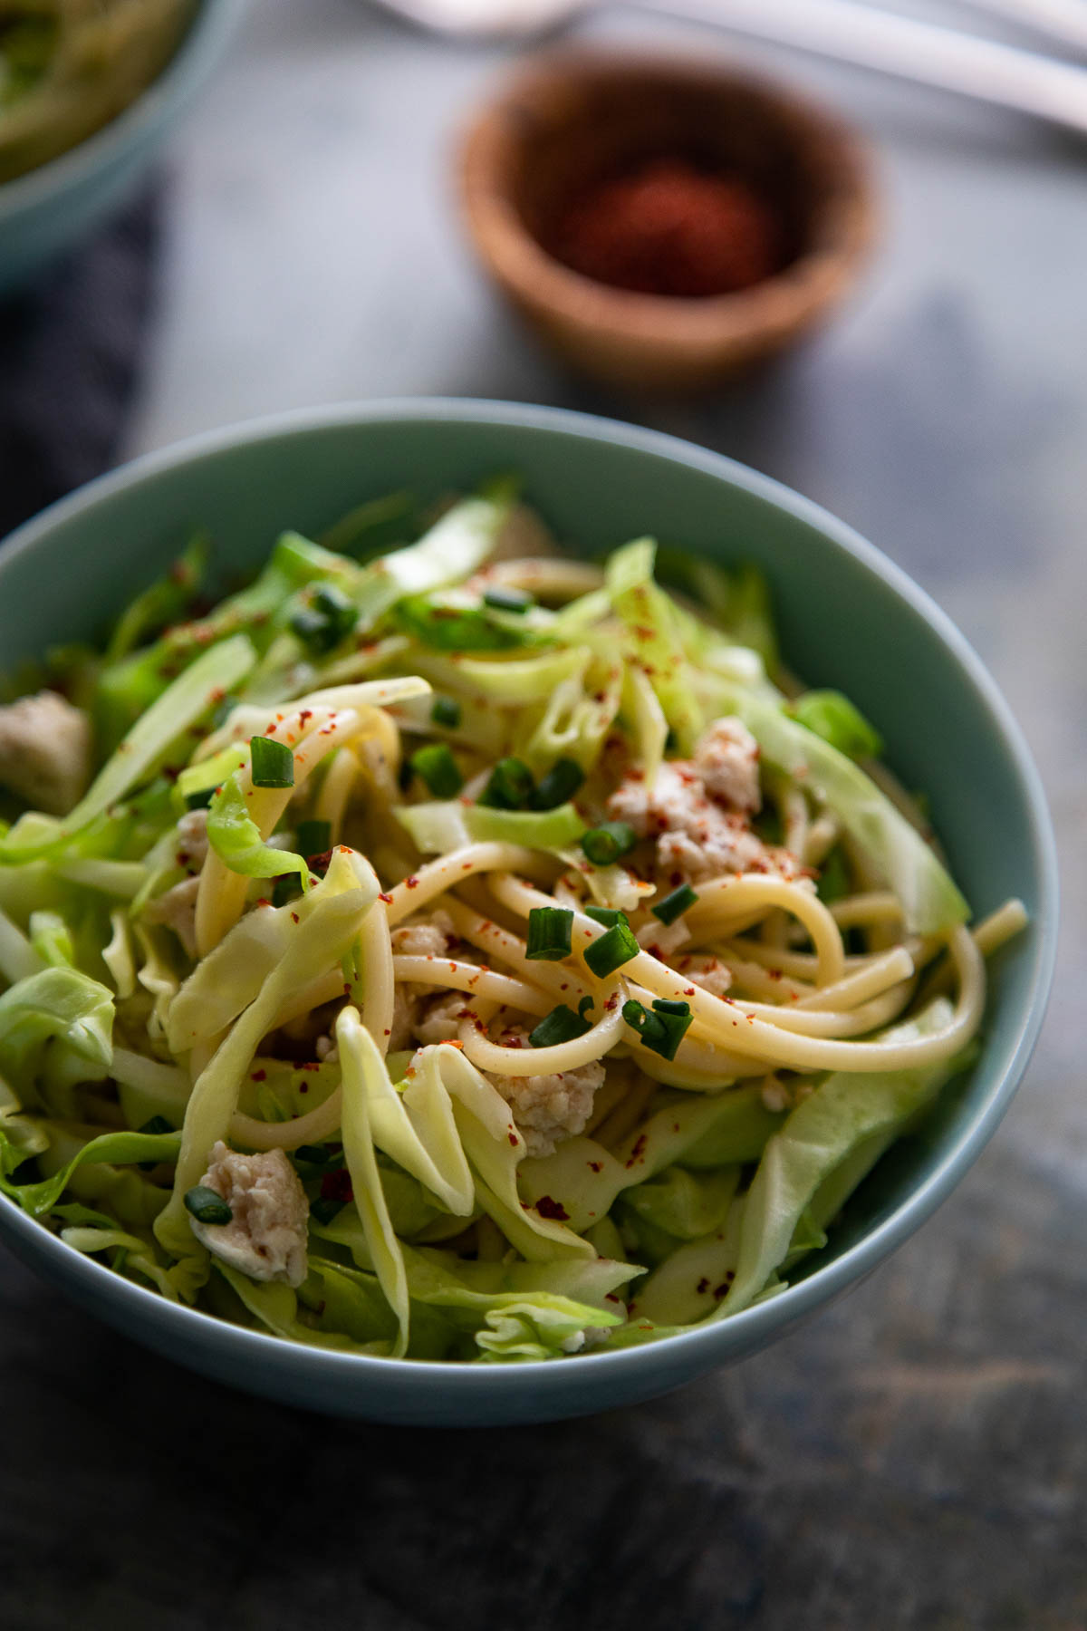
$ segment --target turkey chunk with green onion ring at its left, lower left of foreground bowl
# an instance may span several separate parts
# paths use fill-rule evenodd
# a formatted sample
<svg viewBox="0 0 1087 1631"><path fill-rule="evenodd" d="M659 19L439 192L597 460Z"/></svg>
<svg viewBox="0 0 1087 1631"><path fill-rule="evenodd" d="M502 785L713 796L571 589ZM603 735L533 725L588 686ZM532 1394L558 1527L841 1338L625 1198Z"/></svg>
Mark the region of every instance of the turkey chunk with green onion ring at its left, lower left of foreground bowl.
<svg viewBox="0 0 1087 1631"><path fill-rule="evenodd" d="M301 1285L310 1204L284 1151L240 1155L220 1138L200 1182L223 1197L233 1218L230 1223L189 1218L196 1238L251 1280Z"/></svg>

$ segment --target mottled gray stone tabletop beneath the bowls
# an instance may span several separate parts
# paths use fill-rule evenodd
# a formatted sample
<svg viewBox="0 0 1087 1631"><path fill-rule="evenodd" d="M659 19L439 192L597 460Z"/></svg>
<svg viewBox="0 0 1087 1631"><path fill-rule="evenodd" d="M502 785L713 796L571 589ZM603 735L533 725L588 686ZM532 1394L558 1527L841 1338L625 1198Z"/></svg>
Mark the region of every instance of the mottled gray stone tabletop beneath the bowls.
<svg viewBox="0 0 1087 1631"><path fill-rule="evenodd" d="M618 15L585 33L706 44ZM761 60L874 137L882 250L772 375L711 406L632 404L554 370L464 253L450 140L502 52L448 51L360 0L261 0L174 150L132 449L350 396L531 398L724 449L854 522L975 641L1050 789L1061 972L1019 1101L935 1220L821 1319L570 1425L275 1409L137 1352L5 1254L5 1628L1087 1624L1084 152Z"/></svg>

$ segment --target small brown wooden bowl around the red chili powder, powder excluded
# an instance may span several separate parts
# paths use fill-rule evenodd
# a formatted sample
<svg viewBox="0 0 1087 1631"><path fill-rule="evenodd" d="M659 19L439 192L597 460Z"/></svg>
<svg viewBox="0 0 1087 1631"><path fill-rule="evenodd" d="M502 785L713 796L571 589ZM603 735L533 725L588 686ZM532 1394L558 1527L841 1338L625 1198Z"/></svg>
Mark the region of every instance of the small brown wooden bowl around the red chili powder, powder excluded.
<svg viewBox="0 0 1087 1631"><path fill-rule="evenodd" d="M541 240L596 179L668 155L746 181L779 214L786 264L740 294L629 294ZM536 59L471 124L463 204L484 267L580 373L637 391L702 391L821 321L874 238L862 144L834 116L728 64L564 52Z"/></svg>

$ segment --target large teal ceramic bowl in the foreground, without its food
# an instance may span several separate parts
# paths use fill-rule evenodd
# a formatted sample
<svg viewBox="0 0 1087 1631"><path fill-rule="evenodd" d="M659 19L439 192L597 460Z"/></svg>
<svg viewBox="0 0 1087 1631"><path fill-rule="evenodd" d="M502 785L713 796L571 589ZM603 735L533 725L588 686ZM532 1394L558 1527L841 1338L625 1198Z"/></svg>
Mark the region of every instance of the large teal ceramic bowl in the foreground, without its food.
<svg viewBox="0 0 1087 1631"><path fill-rule="evenodd" d="M70 1251L0 1197L0 1233L33 1267L129 1336L220 1381L339 1416L419 1424L551 1421L645 1399L792 1329L913 1235L994 1132L1045 1008L1056 863L1038 776L996 685L944 613L872 545L740 465L629 426L543 408L375 403L223 431L91 483L0 551L0 669L101 631L194 524L228 566L254 568L284 527L319 533L362 499L468 488L500 470L559 537L588 550L655 533L769 574L784 649L813 685L854 696L908 786L926 788L978 913L1007 895L1030 930L991 967L981 1059L924 1137L857 1192L807 1277L772 1302L616 1354L510 1367L438 1365L297 1347L163 1302Z"/></svg>

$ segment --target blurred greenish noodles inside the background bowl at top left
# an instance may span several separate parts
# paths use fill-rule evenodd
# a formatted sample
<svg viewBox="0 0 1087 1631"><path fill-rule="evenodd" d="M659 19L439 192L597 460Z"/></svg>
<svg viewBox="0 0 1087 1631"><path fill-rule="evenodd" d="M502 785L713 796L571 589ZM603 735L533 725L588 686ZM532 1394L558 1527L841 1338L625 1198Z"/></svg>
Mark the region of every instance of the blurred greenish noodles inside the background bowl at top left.
<svg viewBox="0 0 1087 1631"><path fill-rule="evenodd" d="M0 0L0 183L122 113L173 55L192 0Z"/></svg>

